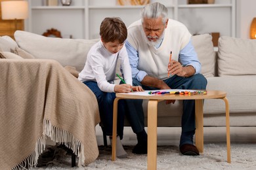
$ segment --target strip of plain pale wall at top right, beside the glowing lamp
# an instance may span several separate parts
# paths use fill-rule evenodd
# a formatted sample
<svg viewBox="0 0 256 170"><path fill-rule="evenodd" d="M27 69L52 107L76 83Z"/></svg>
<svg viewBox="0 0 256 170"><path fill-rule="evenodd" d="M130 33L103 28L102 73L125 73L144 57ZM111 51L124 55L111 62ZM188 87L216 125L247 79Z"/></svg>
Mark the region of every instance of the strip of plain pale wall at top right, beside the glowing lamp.
<svg viewBox="0 0 256 170"><path fill-rule="evenodd" d="M241 39L249 39L249 30L251 21L256 17L256 1L255 0L236 0L237 7L237 32L236 37Z"/></svg>

